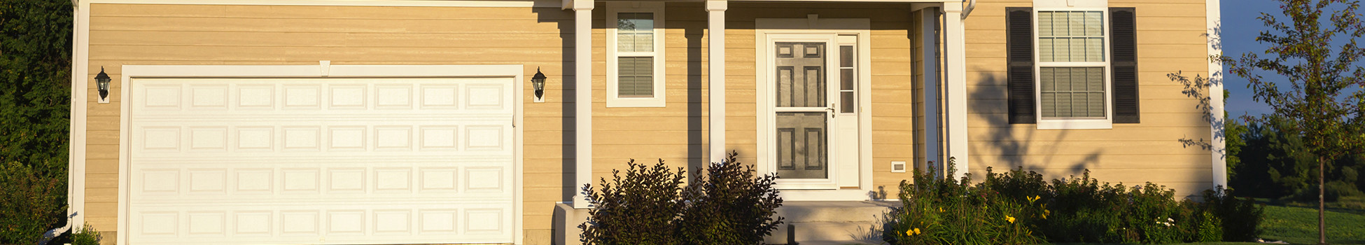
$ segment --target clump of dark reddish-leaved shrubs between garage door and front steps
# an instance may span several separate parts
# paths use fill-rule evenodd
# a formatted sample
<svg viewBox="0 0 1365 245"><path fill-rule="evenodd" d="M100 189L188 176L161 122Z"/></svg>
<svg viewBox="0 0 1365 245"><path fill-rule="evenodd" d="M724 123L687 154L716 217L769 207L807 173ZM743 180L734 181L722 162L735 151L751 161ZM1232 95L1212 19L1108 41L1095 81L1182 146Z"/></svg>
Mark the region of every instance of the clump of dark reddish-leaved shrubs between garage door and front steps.
<svg viewBox="0 0 1365 245"><path fill-rule="evenodd" d="M663 160L650 167L632 159L624 178L613 171L612 182L602 178L601 189L583 186L592 209L579 224L579 240L590 245L762 244L782 223L773 218L782 205L773 189L777 177L755 177L734 156L711 163L707 175L687 188L684 168L670 171Z"/></svg>

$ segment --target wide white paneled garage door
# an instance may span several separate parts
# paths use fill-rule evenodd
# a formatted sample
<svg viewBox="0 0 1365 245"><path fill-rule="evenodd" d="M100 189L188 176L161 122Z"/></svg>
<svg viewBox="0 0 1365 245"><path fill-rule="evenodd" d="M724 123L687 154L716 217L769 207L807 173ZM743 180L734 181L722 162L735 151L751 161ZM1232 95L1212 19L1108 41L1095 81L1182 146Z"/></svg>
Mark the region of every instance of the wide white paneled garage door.
<svg viewBox="0 0 1365 245"><path fill-rule="evenodd" d="M512 82L134 79L128 241L512 242Z"/></svg>

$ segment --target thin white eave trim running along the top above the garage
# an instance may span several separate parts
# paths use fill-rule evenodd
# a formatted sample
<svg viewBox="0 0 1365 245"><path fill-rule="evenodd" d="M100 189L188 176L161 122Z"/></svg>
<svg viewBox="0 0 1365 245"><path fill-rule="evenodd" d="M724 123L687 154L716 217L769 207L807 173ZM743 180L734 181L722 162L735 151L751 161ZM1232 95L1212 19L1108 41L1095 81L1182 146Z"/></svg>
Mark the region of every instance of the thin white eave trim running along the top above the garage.
<svg viewBox="0 0 1365 245"><path fill-rule="evenodd" d="M557 0L82 0L87 4L192 5L382 5L382 7L535 7L558 8Z"/></svg>

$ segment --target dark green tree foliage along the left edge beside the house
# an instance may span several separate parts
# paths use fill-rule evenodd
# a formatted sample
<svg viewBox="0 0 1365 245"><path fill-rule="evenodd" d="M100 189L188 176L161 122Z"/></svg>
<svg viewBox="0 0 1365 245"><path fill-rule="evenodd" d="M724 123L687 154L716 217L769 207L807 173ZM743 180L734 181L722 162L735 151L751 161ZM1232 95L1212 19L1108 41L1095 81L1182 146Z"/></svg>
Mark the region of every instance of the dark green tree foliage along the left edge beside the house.
<svg viewBox="0 0 1365 245"><path fill-rule="evenodd" d="M0 0L0 244L66 220L71 1Z"/></svg>

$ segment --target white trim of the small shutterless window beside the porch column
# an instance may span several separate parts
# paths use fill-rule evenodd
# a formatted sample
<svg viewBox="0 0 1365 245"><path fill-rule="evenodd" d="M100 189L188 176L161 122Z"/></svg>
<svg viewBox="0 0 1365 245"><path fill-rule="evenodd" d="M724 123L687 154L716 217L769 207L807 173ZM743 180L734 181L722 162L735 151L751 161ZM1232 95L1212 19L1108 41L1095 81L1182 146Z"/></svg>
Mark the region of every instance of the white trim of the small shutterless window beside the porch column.
<svg viewBox="0 0 1365 245"><path fill-rule="evenodd" d="M616 40L617 14L621 12L651 12L654 14L654 52L618 52ZM663 74L663 1L607 1L606 3L606 107L663 107L665 78ZM617 82L617 60L621 56L652 56L654 57L654 97L620 97Z"/></svg>

